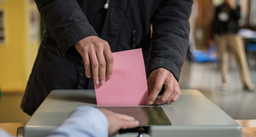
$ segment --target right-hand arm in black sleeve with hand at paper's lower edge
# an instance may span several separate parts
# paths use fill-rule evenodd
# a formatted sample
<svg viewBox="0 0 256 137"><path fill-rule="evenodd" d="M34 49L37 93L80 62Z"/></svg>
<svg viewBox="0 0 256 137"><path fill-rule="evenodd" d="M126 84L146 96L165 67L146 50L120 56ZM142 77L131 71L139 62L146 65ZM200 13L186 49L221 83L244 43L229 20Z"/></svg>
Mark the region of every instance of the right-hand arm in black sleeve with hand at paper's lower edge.
<svg viewBox="0 0 256 137"><path fill-rule="evenodd" d="M163 84L165 92L157 104L175 102L180 95L178 80L189 44L188 19L192 3L192 0L163 0L152 19L149 104L157 98Z"/></svg>

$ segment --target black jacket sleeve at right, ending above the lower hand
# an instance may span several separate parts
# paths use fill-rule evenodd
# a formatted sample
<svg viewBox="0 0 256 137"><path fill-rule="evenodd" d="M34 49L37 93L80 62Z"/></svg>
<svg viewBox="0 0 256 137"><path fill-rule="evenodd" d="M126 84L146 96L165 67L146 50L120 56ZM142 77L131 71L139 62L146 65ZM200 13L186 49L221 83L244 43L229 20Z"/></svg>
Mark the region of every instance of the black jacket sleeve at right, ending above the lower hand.
<svg viewBox="0 0 256 137"><path fill-rule="evenodd" d="M193 0L162 0L153 16L149 74L157 68L169 70L179 81L189 45L189 16Z"/></svg>

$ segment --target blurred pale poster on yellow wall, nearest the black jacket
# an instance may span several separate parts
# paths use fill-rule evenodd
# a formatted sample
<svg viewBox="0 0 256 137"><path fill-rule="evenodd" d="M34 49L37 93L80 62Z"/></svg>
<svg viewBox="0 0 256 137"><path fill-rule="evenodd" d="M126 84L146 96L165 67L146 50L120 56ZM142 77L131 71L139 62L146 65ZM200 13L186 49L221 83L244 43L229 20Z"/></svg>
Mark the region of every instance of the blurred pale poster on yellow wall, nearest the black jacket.
<svg viewBox="0 0 256 137"><path fill-rule="evenodd" d="M37 42L39 37L39 16L36 10L30 11L29 16L29 35L30 35L30 42Z"/></svg>

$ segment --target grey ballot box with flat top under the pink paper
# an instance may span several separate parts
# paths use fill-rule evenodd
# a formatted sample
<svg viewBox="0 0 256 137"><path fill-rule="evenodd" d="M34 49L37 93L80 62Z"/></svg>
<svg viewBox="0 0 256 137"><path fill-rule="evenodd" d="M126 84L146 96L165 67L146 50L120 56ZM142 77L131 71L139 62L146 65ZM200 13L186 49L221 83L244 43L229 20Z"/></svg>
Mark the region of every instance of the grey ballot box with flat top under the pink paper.
<svg viewBox="0 0 256 137"><path fill-rule="evenodd" d="M241 126L201 92L181 90L181 93L176 102L158 105L171 125L146 126L143 137L242 137ZM24 137L45 136L83 105L97 106L95 90L53 90L24 126ZM122 130L112 137L138 135L136 131Z"/></svg>

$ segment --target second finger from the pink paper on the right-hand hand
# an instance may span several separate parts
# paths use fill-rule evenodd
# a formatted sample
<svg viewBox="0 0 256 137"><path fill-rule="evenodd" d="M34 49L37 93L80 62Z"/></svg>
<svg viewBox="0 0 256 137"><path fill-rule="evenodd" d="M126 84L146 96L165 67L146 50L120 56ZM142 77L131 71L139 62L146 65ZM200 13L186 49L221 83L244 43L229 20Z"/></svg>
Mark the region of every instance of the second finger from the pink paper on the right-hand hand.
<svg viewBox="0 0 256 137"><path fill-rule="evenodd" d="M173 98L174 95L172 93L173 93L173 84L172 83L165 84L165 92L162 94L161 98L157 99L156 101L157 105L164 104L169 97Z"/></svg>

